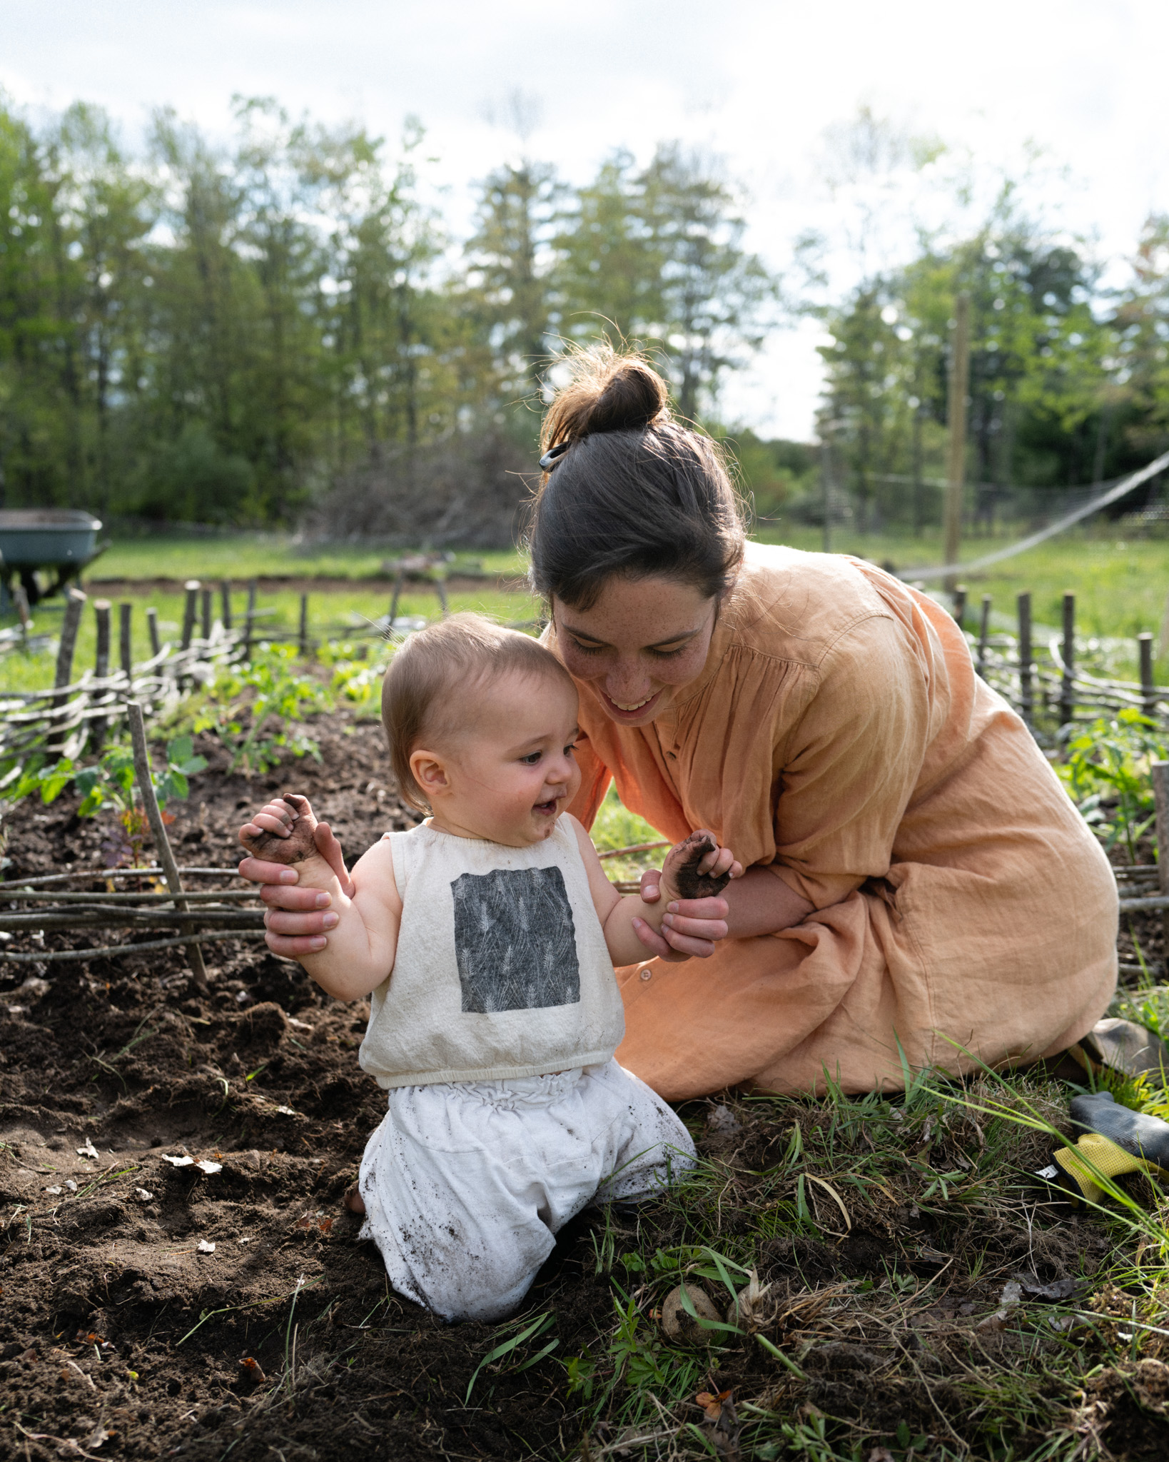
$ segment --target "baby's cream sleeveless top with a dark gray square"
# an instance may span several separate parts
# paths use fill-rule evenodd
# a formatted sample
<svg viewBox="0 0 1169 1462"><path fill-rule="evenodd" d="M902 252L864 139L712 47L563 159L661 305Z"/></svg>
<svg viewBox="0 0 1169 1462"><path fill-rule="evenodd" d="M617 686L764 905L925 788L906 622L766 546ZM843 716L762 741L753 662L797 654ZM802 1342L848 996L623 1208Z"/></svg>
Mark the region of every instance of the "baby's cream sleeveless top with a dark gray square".
<svg viewBox="0 0 1169 1462"><path fill-rule="evenodd" d="M608 1061L625 1015L570 823L507 848L387 832L402 928L359 1061L380 1086L544 1076Z"/></svg>

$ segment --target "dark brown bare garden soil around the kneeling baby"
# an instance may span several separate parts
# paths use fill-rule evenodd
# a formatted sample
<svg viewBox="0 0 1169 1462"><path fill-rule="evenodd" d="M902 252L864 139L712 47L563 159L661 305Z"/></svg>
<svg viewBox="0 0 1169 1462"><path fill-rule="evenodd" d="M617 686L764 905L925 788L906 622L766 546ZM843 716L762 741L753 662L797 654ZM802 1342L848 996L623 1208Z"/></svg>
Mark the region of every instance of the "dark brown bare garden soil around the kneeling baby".
<svg viewBox="0 0 1169 1462"><path fill-rule="evenodd" d="M200 738L212 765L172 826L180 861L234 864L241 813L283 787L313 798L351 860L387 826L412 822L393 792L380 728L330 725L317 728L321 765L305 759L266 778L226 775L222 749ZM79 822L75 808L67 797L16 808L6 826L9 882L99 866L105 829ZM1159 952L1159 927L1146 933L1146 950ZM92 940L48 933L44 946ZM19 947L37 946L22 937ZM547 1333L557 1351L520 1373L488 1368L468 1402L497 1329L444 1326L389 1291L377 1251L357 1240L359 1221L340 1203L384 1110L357 1064L365 1009L329 1000L300 966L254 944L205 950L207 997L191 988L181 950L0 966L0 1456L589 1455L577 1450L582 1398L568 1396L563 1361L592 1348L605 1364L598 1336L614 1329L614 1287L598 1273L595 1240L603 1230L620 1257L639 1222L658 1224L668 1244L681 1241L682 1219L665 1209L576 1219L528 1301L532 1314L554 1311ZM726 1167L726 1235L745 1222L736 1192L750 1199L791 1130L791 1117L780 1132L767 1108L732 1108L731 1135L707 1123L709 1104L684 1110L706 1155ZM818 1120L810 1108L807 1121ZM1042 1143L1020 1140L1035 1145L1020 1164L1043 1161ZM167 1161L187 1156L221 1167ZM978 1276L979 1260L953 1270L932 1308L918 1308L916 1330L890 1338L862 1326L817 1342L805 1380L745 1347L723 1352L703 1385L805 1418L856 1418L874 1436L903 1423L944 1436L938 1417L969 1405L960 1383L973 1351L1011 1364L1011 1336L973 1329L994 1311L1004 1272L1026 1266L1049 1282L1099 1263L1103 1241L1089 1219L1070 1216L1045 1232L1024 1219L940 1235L916 1208L890 1203L868 1218L858 1211L839 1241L764 1241L760 1278L785 1314L770 1333L785 1345L814 1327L810 1292L887 1279L890 1265L928 1281L966 1250L982 1254L985 1269ZM916 1332L928 1332L929 1345ZM1163 1414L1169 1371L1140 1364L1153 1367L1138 1380ZM1124 1434L1122 1455L1163 1455L1154 1450L1163 1424L1132 1401L1131 1379L1102 1371L1094 1387L1084 1399L1092 1425ZM621 1439L593 1430L595 1447L606 1440Z"/></svg>

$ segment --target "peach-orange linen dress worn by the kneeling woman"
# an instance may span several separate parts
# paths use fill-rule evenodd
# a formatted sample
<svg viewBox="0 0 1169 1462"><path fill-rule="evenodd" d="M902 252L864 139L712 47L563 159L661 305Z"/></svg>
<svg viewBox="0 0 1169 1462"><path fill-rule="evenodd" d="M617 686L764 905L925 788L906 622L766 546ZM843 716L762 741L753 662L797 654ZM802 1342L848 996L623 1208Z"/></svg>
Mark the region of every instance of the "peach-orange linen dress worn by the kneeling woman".
<svg viewBox="0 0 1169 1462"><path fill-rule="evenodd" d="M555 649L555 636L549 636ZM754 1082L897 1089L1052 1054L1116 984L1116 889L953 618L856 558L750 545L703 674L647 727L580 684L590 826L609 779L710 827L815 911L710 959L618 971L618 1060L668 1099Z"/></svg>

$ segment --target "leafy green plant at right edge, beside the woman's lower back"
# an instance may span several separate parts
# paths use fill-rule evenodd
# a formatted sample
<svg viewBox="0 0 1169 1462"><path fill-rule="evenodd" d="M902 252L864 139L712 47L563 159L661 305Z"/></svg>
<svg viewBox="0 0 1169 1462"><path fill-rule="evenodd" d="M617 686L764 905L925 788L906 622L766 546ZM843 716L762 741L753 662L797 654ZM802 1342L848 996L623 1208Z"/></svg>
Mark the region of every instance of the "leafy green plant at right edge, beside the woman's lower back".
<svg viewBox="0 0 1169 1462"><path fill-rule="evenodd" d="M1115 721L1094 721L1067 741L1059 779L1105 846L1124 841L1130 863L1137 842L1153 825L1149 763L1166 753L1165 731L1135 709Z"/></svg>

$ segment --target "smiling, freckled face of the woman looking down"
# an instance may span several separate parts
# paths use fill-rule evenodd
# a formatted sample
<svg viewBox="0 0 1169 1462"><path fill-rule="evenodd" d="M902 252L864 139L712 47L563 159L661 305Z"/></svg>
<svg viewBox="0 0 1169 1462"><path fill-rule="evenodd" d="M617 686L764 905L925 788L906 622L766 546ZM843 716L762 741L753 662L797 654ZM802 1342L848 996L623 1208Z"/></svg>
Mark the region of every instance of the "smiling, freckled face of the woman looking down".
<svg viewBox="0 0 1169 1462"><path fill-rule="evenodd" d="M590 610L552 601L557 649L611 721L643 727L701 674L717 604L679 579L615 576Z"/></svg>

